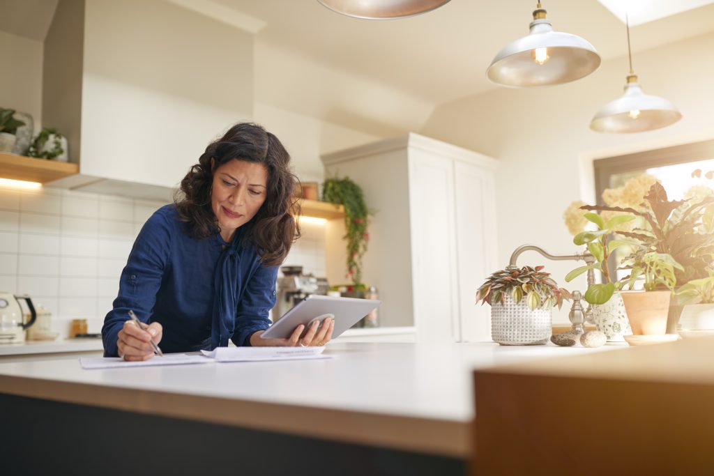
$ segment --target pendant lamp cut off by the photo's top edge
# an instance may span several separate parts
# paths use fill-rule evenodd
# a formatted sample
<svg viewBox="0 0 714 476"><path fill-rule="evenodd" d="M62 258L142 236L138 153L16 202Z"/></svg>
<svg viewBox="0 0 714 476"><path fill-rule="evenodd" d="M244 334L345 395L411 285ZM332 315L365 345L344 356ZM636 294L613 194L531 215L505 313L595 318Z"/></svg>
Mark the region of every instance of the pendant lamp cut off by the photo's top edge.
<svg viewBox="0 0 714 476"><path fill-rule="evenodd" d="M449 0L317 0L338 14L366 20L406 18L438 9Z"/></svg>

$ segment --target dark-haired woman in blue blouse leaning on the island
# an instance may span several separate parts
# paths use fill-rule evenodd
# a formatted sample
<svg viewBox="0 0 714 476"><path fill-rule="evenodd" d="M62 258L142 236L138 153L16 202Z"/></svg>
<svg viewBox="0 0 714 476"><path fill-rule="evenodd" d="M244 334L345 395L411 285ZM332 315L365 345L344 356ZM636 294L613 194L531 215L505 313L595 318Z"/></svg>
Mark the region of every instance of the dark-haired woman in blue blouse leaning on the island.
<svg viewBox="0 0 714 476"><path fill-rule="evenodd" d="M262 339L276 303L276 277L294 240L290 156L261 126L239 123L181 181L181 198L141 228L101 330L104 355L146 360L228 345L324 345L333 320ZM149 323L129 319L129 310ZM145 325L143 327L146 327Z"/></svg>

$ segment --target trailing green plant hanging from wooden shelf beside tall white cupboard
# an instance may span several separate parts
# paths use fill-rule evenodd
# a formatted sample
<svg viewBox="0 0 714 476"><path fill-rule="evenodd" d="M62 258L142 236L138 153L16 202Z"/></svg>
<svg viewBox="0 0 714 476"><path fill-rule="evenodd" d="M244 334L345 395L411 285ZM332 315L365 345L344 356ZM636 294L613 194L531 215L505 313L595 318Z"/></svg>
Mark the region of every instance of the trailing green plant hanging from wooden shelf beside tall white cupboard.
<svg viewBox="0 0 714 476"><path fill-rule="evenodd" d="M362 282L362 258L369 240L367 204L362 188L350 178L328 178L323 183L323 200L345 208L344 238L347 240L347 276L356 285Z"/></svg>

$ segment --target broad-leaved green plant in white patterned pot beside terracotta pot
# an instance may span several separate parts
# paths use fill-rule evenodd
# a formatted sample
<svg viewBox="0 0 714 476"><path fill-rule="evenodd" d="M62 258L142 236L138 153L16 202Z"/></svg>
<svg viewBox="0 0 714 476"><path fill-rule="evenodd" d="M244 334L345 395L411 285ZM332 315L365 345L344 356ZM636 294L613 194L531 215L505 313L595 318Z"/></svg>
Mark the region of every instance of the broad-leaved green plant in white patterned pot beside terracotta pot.
<svg viewBox="0 0 714 476"><path fill-rule="evenodd" d="M595 257L595 263L580 266L565 275L565 281L570 283L579 275L590 269L600 272L602 282L590 285L583 298L593 305L593 321L595 327L605 334L609 342L623 342L624 335L632 333L630 323L625 311L625 304L620 296L620 283L615 275L615 270L610 270L610 255L623 246L630 246L628 240L621 240L615 229L623 223L635 219L634 216L613 216L607 222L597 213L585 213L587 221L597 226L595 231L581 231L573 238L573 243L585 245Z"/></svg>

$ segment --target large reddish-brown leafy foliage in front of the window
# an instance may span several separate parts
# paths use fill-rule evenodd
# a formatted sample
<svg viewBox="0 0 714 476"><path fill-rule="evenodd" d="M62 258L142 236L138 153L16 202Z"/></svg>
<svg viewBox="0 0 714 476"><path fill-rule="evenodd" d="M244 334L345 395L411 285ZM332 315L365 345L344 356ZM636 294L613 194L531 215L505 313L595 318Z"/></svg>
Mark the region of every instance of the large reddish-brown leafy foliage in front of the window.
<svg viewBox="0 0 714 476"><path fill-rule="evenodd" d="M696 203L688 200L670 201L660 183L654 183L644 196L643 208L614 206L582 206L588 211L613 211L630 213L644 220L643 228L620 231L625 238L638 243L635 253L624 261L640 263L637 270L644 270L654 260L653 255L669 255L674 263L675 283L685 284L705 278L714 264L714 233L703 227L708 210L714 205L714 197L707 196ZM648 255L645 258L645 255ZM643 271L644 272L644 271Z"/></svg>

